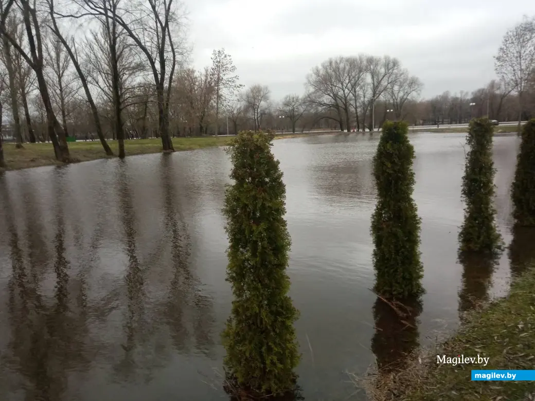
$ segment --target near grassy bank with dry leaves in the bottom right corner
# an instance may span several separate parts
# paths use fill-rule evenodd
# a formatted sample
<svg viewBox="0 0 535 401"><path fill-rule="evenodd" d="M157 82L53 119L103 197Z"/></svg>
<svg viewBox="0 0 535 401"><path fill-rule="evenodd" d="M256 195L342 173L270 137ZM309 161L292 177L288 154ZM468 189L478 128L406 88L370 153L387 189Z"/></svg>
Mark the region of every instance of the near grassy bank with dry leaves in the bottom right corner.
<svg viewBox="0 0 535 401"><path fill-rule="evenodd" d="M466 315L456 333L409 357L401 372L374 373L363 387L371 401L535 399L535 382L471 381L471 370L535 367L535 263L513 279L509 295ZM490 358L486 366L439 364L438 356Z"/></svg>

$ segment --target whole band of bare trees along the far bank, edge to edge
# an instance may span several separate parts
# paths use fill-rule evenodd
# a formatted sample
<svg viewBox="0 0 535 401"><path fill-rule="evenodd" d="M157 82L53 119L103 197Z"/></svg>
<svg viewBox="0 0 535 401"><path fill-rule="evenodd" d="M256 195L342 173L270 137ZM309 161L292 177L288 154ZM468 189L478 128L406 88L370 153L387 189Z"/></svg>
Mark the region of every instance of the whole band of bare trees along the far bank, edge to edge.
<svg viewBox="0 0 535 401"><path fill-rule="evenodd" d="M240 84L225 49L199 71L190 65L177 0L0 0L0 16L0 140L51 142L65 161L69 138L100 140L108 155L107 141L118 140L123 157L129 138L161 138L163 151L173 151L173 137L247 129L374 130L386 120L535 115L533 18L506 33L496 79L472 92L421 99L422 81L399 59L359 54L325 60L306 76L304 95L277 101L267 86Z"/></svg>

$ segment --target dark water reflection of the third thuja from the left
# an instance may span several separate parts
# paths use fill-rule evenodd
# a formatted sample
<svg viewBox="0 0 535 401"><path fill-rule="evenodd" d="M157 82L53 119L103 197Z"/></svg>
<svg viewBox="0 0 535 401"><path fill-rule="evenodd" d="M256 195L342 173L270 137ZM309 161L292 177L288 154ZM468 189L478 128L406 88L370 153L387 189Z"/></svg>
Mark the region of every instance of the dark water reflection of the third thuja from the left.
<svg viewBox="0 0 535 401"><path fill-rule="evenodd" d="M462 288L459 291L458 307L462 319L464 312L488 300L488 287L491 283L496 259L468 253L467 255L461 255L459 261L463 266Z"/></svg>

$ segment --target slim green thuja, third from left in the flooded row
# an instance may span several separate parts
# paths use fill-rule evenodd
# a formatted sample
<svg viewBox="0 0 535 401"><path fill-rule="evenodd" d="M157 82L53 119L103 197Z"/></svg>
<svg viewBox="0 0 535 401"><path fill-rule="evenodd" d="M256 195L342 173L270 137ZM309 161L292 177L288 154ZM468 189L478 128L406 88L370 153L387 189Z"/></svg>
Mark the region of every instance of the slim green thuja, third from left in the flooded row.
<svg viewBox="0 0 535 401"><path fill-rule="evenodd" d="M462 181L464 222L459 233L461 252L495 253L502 247L494 223L493 126L486 118L470 121Z"/></svg>

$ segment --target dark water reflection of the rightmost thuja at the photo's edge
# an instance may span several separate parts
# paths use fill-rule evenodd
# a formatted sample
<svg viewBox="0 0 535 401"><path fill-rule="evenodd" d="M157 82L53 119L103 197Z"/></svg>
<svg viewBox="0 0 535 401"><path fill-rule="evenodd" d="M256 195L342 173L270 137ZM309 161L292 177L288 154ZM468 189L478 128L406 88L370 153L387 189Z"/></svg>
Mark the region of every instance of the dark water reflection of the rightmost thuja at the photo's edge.
<svg viewBox="0 0 535 401"><path fill-rule="evenodd" d="M535 261L535 227L513 227L513 241L509 245L511 275L517 277Z"/></svg>

